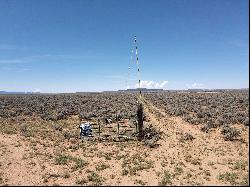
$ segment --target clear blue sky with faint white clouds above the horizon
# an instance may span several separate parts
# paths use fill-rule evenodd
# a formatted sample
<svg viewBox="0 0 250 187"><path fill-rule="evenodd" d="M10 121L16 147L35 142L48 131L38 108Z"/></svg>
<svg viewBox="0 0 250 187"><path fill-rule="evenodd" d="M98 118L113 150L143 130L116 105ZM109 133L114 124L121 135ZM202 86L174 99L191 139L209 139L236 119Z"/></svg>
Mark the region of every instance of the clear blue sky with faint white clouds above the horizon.
<svg viewBox="0 0 250 187"><path fill-rule="evenodd" d="M0 0L0 90L248 88L247 0ZM131 65L128 78L128 66Z"/></svg>

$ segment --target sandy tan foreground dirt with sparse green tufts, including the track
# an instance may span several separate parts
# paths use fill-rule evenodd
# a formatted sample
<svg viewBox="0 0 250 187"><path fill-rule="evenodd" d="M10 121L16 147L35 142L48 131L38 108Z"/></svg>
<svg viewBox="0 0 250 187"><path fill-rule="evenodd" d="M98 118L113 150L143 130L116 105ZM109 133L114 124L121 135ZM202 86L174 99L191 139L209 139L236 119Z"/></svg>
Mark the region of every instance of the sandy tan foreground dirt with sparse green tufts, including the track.
<svg viewBox="0 0 250 187"><path fill-rule="evenodd" d="M154 148L79 139L74 116L57 123L2 120L0 185L249 184L249 127L235 124L241 137L225 141L219 128L205 133L201 125L144 106L148 123L162 132Z"/></svg>

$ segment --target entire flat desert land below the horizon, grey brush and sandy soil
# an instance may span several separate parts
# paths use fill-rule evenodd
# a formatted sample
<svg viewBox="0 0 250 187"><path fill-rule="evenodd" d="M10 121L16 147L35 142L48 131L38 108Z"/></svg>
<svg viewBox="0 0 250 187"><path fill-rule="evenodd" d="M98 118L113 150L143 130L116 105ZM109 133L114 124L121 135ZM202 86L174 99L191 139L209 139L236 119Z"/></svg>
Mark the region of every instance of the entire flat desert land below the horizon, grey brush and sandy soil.
<svg viewBox="0 0 250 187"><path fill-rule="evenodd" d="M0 185L249 185L248 160L248 91L0 95Z"/></svg>

